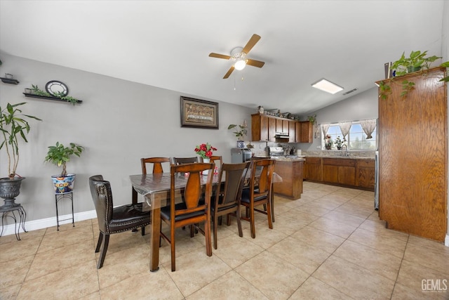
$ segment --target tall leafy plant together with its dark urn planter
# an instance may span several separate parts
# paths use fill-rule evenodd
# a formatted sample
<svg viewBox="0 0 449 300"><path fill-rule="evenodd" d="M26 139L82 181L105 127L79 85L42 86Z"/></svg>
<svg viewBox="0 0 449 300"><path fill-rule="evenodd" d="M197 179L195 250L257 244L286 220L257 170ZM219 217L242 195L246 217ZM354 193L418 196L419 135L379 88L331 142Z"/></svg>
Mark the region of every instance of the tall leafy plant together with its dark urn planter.
<svg viewBox="0 0 449 300"><path fill-rule="evenodd" d="M3 207L15 207L14 200L20 193L20 184L25 177L21 177L15 173L18 167L20 153L19 153L19 139L27 141L27 133L31 127L28 119L36 119L41 121L38 117L24 115L20 110L21 105L26 102L17 104L6 104L6 107L0 107L0 150L5 149L8 156L8 177L0 178L0 197L4 198Z"/></svg>

